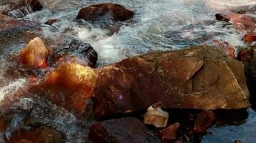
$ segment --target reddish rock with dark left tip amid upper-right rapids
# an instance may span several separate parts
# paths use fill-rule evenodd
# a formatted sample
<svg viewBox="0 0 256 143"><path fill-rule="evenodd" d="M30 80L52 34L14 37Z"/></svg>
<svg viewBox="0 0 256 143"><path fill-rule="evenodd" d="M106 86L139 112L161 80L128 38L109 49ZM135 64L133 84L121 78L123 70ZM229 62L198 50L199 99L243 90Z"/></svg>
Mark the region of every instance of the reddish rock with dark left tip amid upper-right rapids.
<svg viewBox="0 0 256 143"><path fill-rule="evenodd" d="M226 14L216 14L215 17L217 20L232 23L239 31L253 31L256 27L256 18L252 16L228 12Z"/></svg>

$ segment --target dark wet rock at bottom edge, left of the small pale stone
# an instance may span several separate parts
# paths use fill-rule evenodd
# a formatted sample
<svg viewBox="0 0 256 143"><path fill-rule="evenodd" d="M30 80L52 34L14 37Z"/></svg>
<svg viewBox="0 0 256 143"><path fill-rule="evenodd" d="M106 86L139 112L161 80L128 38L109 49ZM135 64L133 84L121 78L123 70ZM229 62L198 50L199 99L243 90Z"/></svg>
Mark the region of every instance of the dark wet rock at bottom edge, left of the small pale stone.
<svg viewBox="0 0 256 143"><path fill-rule="evenodd" d="M134 117L96 122L90 127L88 138L92 142L160 142Z"/></svg>

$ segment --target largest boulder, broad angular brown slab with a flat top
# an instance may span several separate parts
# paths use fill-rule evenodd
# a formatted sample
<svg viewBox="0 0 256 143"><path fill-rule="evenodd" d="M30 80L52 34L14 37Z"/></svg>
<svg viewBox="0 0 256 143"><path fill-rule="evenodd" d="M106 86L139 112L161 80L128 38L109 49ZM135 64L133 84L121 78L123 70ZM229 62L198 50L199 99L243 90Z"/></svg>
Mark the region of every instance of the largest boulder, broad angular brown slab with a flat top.
<svg viewBox="0 0 256 143"><path fill-rule="evenodd" d="M94 97L99 117L140 111L155 102L175 109L250 107L242 62L206 45L155 51L106 66L99 71Z"/></svg>

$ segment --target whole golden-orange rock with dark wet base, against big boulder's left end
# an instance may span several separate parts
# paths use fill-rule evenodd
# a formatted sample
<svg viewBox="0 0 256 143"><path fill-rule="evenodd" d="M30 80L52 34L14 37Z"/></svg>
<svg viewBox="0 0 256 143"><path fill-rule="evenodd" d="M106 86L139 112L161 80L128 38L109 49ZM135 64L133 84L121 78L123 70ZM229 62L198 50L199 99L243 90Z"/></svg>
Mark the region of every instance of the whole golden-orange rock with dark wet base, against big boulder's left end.
<svg viewBox="0 0 256 143"><path fill-rule="evenodd" d="M88 106L96 77L96 69L81 64L63 64L46 75L42 89L50 94L42 97L68 111L83 114L91 109Z"/></svg>

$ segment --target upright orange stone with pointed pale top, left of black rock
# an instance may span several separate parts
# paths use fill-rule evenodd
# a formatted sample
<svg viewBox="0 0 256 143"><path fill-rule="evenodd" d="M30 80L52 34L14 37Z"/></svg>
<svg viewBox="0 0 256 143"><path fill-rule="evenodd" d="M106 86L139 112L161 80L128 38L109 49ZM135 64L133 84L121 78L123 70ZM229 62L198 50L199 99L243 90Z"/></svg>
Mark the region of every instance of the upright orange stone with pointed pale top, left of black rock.
<svg viewBox="0 0 256 143"><path fill-rule="evenodd" d="M32 69L45 69L47 68L47 59L49 51L45 47L42 39L36 37L29 41L29 44L22 49L20 60L24 66Z"/></svg>

